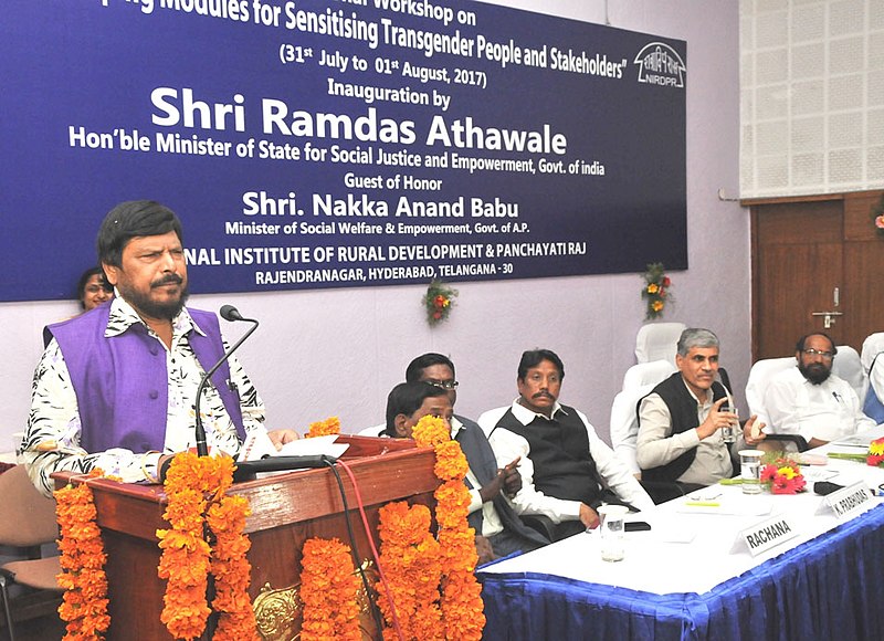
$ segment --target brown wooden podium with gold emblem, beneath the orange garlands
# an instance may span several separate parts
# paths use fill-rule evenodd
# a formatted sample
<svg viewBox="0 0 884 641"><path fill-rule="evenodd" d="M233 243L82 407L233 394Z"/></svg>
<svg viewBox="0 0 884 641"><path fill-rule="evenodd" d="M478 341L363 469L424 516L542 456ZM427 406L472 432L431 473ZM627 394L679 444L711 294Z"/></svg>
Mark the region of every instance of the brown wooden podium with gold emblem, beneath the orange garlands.
<svg viewBox="0 0 884 641"><path fill-rule="evenodd" d="M410 440L347 434L338 437L338 442L349 443L341 461L356 476L377 546L380 546L378 511L385 504L408 501L432 507L439 480L433 474L435 459L431 449L415 448ZM350 508L357 551L360 559L371 559L352 483L344 470L338 473ZM70 473L53 475L56 484L67 483L71 476ZM107 553L105 569L110 600L107 638L171 639L159 619L166 581L157 576L160 549L156 532L169 526L162 518L166 508L162 487L105 479L93 480L90 485ZM252 511L245 528L252 540L249 593L255 606L259 632L265 639L294 639L301 627L296 587L304 542L318 536L350 543L334 473L328 469L286 472L236 483L231 493L245 496Z"/></svg>

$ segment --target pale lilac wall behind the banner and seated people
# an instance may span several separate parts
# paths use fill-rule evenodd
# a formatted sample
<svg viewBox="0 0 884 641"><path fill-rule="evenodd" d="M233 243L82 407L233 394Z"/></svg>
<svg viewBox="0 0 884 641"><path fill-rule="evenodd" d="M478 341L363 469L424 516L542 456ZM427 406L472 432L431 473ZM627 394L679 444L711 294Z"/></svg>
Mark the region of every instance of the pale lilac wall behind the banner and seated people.
<svg viewBox="0 0 884 641"><path fill-rule="evenodd" d="M606 20L601 0L493 3ZM607 12L612 27L687 41L690 269L671 273L676 304L664 319L715 330L722 361L741 389L750 364L749 219L737 203L717 196L719 188L736 195L739 183L738 6L619 0ZM34 260L46 258L35 251ZM233 303L261 319L240 358L273 428L303 431L332 414L340 417L345 431L376 424L408 361L429 350L451 355L461 380L457 410L475 417L515 397L524 349L548 347L565 361L561 400L585 410L607 438L611 401L635 360L635 333L644 318L641 283L638 274L623 274L455 284L456 306L435 329L423 318L423 286L194 296L190 304L217 309ZM73 302L0 304L6 330L0 451L25 424L42 326L74 313ZM228 337L235 339L240 329L228 325Z"/></svg>

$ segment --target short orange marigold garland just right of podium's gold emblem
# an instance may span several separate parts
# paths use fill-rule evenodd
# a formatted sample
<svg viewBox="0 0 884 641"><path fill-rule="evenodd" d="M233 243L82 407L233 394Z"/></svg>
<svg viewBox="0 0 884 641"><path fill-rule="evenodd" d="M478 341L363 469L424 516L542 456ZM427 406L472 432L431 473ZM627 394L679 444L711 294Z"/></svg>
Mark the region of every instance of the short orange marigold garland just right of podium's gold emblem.
<svg viewBox="0 0 884 641"><path fill-rule="evenodd" d="M362 638L350 548L337 538L311 538L301 564L302 641Z"/></svg>

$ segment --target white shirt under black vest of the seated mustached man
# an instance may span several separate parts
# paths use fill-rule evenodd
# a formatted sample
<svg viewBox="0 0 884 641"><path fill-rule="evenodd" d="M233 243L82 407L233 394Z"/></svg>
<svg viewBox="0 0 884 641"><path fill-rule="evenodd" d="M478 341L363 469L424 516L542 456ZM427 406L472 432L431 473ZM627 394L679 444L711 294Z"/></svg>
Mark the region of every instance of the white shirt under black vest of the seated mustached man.
<svg viewBox="0 0 884 641"><path fill-rule="evenodd" d="M516 417L516 420L523 425L528 425L536 417L543 417L544 414L533 412L528 408L519 404L518 399L516 399L512 407L488 410L478 417L477 422L488 437L488 442L494 450L498 467L512 463L516 458L520 456L522 459L518 464L518 471L519 474L522 474L522 490L513 498L513 507L518 514L544 514L548 516L552 523L578 521L580 518L579 501L567 501L564 498L556 498L555 496L547 496L534 486L534 463L530 459L530 445L528 441L525 440L524 437L511 432L505 428L495 429L497 421L499 421L509 409L513 410L513 416ZM562 407L556 402L552 408L552 416L555 417L556 413L564 411ZM629 467L627 467L627 465L614 455L613 450L599 438L596 433L596 429L589 423L589 419L587 419L582 412L578 410L575 411L577 411L580 421L586 425L587 435L589 438L589 454L596 462L596 470L604 485L614 492L622 501L639 509L652 508L654 502L632 475Z"/></svg>

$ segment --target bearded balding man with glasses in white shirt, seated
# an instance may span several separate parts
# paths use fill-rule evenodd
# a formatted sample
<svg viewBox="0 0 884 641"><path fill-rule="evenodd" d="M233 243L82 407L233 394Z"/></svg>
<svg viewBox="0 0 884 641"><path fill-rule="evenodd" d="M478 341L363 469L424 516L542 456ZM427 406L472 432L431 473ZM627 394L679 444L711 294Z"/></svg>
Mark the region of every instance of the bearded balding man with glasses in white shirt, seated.
<svg viewBox="0 0 884 641"><path fill-rule="evenodd" d="M875 425L863 414L850 383L832 374L836 354L827 334L808 334L798 340L796 367L776 375L765 390L771 433L799 434L815 448Z"/></svg>

